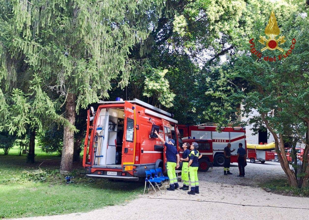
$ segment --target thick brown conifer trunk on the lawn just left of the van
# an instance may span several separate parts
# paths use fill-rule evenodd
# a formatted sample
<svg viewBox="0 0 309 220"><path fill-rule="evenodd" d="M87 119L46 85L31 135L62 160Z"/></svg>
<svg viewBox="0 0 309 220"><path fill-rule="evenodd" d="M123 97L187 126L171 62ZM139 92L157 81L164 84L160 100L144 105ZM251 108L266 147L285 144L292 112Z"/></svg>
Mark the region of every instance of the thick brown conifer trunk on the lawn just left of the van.
<svg viewBox="0 0 309 220"><path fill-rule="evenodd" d="M70 124L75 124L75 95L69 93L66 100L66 119ZM72 170L74 151L74 131L70 127L64 126L63 128L63 148L60 164L60 173L67 174Z"/></svg>

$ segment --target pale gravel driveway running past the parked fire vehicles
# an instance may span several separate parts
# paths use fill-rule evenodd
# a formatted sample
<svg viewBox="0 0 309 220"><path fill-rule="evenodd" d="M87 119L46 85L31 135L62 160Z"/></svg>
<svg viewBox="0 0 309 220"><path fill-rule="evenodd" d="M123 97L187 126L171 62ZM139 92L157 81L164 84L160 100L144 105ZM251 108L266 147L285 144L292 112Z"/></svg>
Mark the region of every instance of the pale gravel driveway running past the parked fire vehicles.
<svg viewBox="0 0 309 220"><path fill-rule="evenodd" d="M238 167L231 165L233 175L223 175L222 167L199 172L200 194L187 191L153 193L118 206L108 206L88 213L72 213L26 219L308 219L309 198L267 193L257 187L270 178L284 178L276 162L248 162L246 177L237 177ZM180 184L182 185L182 184Z"/></svg>

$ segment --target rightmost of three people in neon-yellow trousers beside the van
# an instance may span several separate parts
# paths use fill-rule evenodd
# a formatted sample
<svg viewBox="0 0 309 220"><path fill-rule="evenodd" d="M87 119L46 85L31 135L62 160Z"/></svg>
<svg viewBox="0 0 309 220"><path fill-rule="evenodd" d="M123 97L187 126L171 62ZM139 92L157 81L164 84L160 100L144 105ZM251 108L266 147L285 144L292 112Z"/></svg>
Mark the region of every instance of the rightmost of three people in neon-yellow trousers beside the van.
<svg viewBox="0 0 309 220"><path fill-rule="evenodd" d="M198 152L197 142L192 142L190 145L190 154L189 154L189 173L191 181L191 191L188 192L189 195L199 194L199 183L197 178L197 169L198 169L198 159L202 157L201 153Z"/></svg>

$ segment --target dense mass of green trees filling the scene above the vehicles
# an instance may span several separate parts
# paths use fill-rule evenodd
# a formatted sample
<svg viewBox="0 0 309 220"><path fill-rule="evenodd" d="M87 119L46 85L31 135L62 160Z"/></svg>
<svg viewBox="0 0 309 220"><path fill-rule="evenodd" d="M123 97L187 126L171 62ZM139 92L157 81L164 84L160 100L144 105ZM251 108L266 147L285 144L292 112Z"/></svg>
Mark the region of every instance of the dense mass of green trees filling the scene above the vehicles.
<svg viewBox="0 0 309 220"><path fill-rule="evenodd" d="M73 152L79 156L83 109L120 96L168 110L180 124L234 123L241 103L245 115L254 108L260 115L250 123L255 130L266 125L277 151L284 151L285 136L307 146L295 173L281 158L290 183L306 185L304 1L5 0L0 8L0 131L28 133L33 150L39 133L46 152L62 153L63 172ZM258 59L249 43L261 51L271 10L286 39L284 54L296 42L281 60L278 50L263 52L276 62Z"/></svg>

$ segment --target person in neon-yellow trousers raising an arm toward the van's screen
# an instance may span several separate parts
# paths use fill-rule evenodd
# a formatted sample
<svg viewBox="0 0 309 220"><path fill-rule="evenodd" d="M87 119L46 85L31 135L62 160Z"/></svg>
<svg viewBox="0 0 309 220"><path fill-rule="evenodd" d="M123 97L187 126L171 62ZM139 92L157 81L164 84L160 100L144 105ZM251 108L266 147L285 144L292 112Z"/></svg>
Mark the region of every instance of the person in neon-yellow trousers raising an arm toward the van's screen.
<svg viewBox="0 0 309 220"><path fill-rule="evenodd" d="M167 176L170 179L170 187L167 190L174 191L175 189L179 188L175 167L176 169L179 168L179 154L176 149L175 141L173 139L168 139L168 143L164 141L164 139L155 131L155 134L158 136L160 141L163 142L163 145L166 146L166 159L167 159Z"/></svg>

